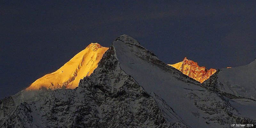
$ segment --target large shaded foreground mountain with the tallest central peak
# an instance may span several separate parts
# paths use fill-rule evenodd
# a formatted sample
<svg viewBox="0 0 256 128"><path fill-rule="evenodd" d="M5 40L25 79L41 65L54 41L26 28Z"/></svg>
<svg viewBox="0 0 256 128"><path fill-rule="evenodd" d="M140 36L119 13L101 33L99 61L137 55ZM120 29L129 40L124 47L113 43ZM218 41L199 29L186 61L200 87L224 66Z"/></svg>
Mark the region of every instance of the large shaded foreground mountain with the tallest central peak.
<svg viewBox="0 0 256 128"><path fill-rule="evenodd" d="M17 103L17 95L1 100L0 126L217 128L255 124L256 116L246 114L255 100L219 91L214 84L218 73L201 84L123 35L75 89L51 90L29 102ZM243 108L237 109L241 103Z"/></svg>

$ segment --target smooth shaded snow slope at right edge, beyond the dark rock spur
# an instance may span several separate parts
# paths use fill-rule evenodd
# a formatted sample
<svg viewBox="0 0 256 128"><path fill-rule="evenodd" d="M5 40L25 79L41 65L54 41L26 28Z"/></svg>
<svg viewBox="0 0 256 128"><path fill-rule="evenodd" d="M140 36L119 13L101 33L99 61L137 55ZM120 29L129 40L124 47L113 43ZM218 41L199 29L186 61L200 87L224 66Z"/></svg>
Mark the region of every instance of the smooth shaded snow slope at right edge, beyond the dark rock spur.
<svg viewBox="0 0 256 128"><path fill-rule="evenodd" d="M240 67L220 69L217 80L221 91L256 100L256 60Z"/></svg>

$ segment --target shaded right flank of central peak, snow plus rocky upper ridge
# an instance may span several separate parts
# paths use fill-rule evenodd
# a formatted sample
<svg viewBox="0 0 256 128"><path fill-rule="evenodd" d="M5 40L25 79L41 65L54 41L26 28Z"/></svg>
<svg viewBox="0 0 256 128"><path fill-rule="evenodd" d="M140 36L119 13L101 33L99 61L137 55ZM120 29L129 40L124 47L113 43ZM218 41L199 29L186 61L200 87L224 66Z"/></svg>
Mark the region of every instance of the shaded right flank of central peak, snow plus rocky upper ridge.
<svg viewBox="0 0 256 128"><path fill-rule="evenodd" d="M201 87L178 70L168 68L133 38L123 35L113 42L120 67L148 93L156 93L192 127L229 127L240 115L218 93ZM192 84L191 84L192 83ZM195 85L197 84L197 85ZM220 116L221 115L221 116Z"/></svg>

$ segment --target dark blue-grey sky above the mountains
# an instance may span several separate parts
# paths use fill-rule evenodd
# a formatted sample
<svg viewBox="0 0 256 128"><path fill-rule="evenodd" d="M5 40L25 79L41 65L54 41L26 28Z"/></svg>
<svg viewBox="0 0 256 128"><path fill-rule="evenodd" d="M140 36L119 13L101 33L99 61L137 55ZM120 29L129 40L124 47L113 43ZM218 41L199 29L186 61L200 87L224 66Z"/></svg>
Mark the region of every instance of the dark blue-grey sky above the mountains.
<svg viewBox="0 0 256 128"><path fill-rule="evenodd" d="M165 63L206 68L256 58L256 1L0 1L0 99L51 73L91 42L126 34Z"/></svg>

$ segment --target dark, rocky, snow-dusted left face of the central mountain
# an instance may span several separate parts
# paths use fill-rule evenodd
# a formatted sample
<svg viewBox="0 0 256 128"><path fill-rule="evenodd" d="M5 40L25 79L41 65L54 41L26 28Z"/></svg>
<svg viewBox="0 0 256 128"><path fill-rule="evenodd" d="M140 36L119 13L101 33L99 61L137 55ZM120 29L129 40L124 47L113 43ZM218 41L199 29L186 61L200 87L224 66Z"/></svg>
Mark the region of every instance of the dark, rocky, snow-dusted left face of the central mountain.
<svg viewBox="0 0 256 128"><path fill-rule="evenodd" d="M38 101L21 103L0 120L0 126L188 127L164 100L150 96L120 68L114 48L77 88L54 90Z"/></svg>

